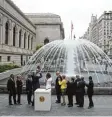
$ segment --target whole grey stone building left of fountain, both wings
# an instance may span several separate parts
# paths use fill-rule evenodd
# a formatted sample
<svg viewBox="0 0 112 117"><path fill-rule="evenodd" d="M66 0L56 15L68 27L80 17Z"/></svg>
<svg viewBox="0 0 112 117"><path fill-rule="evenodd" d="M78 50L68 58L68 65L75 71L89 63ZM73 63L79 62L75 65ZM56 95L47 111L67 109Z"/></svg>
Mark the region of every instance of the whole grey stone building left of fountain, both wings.
<svg viewBox="0 0 112 117"><path fill-rule="evenodd" d="M56 39L64 39L58 15L38 14L31 20L11 0L0 0L0 64L24 65L37 44Z"/></svg>

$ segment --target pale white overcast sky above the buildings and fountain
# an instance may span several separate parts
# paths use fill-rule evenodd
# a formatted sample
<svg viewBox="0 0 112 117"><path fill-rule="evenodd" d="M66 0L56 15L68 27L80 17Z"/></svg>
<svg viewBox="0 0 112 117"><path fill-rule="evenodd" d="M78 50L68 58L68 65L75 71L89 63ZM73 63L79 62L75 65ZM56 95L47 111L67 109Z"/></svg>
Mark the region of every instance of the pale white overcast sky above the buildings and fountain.
<svg viewBox="0 0 112 117"><path fill-rule="evenodd" d="M65 37L83 36L91 21L91 15L99 18L104 11L112 11L112 0L12 0L23 13L54 13L61 16Z"/></svg>

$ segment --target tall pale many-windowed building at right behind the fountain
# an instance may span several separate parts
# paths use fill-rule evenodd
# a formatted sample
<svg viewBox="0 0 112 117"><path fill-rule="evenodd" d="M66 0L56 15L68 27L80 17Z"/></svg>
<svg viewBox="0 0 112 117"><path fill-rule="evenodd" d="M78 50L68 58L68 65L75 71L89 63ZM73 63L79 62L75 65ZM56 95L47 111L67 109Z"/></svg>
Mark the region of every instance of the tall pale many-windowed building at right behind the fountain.
<svg viewBox="0 0 112 117"><path fill-rule="evenodd" d="M97 44L106 54L111 57L112 11L104 11L104 13L98 19L97 16L92 15L88 30L82 37Z"/></svg>

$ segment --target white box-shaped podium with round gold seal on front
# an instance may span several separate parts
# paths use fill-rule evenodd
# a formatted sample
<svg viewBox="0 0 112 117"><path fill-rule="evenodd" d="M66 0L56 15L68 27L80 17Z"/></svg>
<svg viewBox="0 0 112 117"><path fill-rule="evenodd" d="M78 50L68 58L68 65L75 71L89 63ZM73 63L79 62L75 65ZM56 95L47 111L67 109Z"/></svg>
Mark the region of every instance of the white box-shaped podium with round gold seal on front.
<svg viewBox="0 0 112 117"><path fill-rule="evenodd" d="M37 89L34 97L35 111L50 111L51 89Z"/></svg>

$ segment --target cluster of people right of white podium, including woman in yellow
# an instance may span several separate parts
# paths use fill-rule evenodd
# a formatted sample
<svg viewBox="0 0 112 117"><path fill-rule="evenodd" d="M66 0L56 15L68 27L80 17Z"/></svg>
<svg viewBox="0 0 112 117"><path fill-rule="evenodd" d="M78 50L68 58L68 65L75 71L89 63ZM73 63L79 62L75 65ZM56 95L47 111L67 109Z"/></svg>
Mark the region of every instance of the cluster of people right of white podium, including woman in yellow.
<svg viewBox="0 0 112 117"><path fill-rule="evenodd" d="M76 97L76 105L78 107L84 106L84 95L85 95L85 86L87 87L87 95L89 98L89 108L94 107L92 96L94 93L93 87L94 83L92 80L92 77L89 76L89 83L86 83L84 81L84 77L81 77L76 75L76 77L71 77L69 79L66 78L65 75L60 75L60 72L56 73L56 83L55 83L55 89L56 89L56 95L57 100L56 103L61 103L61 97L62 97L62 103L61 105L66 105L65 102L65 94L68 95L68 107L73 106L73 95Z"/></svg>

